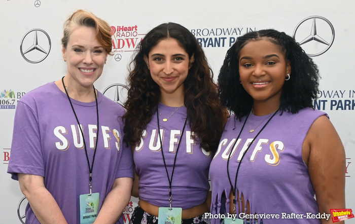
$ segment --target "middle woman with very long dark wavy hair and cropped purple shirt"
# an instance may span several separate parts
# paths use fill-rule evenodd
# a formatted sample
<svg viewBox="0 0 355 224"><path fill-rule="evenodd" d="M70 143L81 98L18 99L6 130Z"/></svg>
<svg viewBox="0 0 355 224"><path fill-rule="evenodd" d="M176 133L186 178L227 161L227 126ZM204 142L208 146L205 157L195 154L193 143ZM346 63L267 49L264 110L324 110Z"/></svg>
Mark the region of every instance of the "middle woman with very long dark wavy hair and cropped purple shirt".
<svg viewBox="0 0 355 224"><path fill-rule="evenodd" d="M226 116L202 48L185 27L164 23L148 32L130 65L124 142L139 183L131 223L172 216L206 223L208 168Z"/></svg>

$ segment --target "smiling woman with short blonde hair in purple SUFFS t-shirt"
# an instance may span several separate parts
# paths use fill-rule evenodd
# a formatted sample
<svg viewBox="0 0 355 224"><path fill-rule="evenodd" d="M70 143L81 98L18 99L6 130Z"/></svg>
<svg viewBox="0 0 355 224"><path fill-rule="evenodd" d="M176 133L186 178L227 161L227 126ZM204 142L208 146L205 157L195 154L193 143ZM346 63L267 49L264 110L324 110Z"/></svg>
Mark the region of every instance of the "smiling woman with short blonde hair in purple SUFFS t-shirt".
<svg viewBox="0 0 355 224"><path fill-rule="evenodd" d="M64 24L66 75L18 103L8 172L26 223L119 223L133 182L124 109L93 85L111 50L108 23L78 10Z"/></svg>

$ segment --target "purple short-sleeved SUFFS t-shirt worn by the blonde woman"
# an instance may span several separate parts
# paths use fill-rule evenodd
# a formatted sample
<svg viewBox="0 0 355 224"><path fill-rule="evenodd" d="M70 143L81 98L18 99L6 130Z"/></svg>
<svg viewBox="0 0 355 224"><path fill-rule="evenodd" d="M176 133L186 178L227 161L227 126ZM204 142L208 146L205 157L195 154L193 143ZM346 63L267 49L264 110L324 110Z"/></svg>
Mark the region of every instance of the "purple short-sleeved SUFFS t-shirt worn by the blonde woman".
<svg viewBox="0 0 355 224"><path fill-rule="evenodd" d="M101 208L115 178L133 178L131 150L122 144L124 109L98 93L97 136L96 102L71 101L84 130L90 165L98 140L92 192L100 194ZM79 196L89 194L89 167L72 107L55 83L30 91L18 102L8 173L15 180L18 180L17 173L45 177L46 189L58 203L66 221L80 223ZM40 223L29 205L26 223Z"/></svg>

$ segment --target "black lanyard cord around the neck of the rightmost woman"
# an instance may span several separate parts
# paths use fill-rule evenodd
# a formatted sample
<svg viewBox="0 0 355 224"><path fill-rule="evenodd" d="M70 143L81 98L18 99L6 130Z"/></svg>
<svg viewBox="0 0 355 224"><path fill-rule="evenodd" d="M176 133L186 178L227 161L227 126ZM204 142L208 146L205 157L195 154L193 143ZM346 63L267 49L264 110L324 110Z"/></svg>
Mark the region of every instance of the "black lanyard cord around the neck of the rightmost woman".
<svg viewBox="0 0 355 224"><path fill-rule="evenodd" d="M228 155L228 160L227 160L227 175L228 175L229 184L231 185L231 188L232 188L232 191L233 191L233 211L234 211L234 213L235 213L235 202L236 202L236 201L235 201L235 193L236 193L236 189L237 189L237 176L238 176L238 172L239 172L239 167L240 167L241 161L243 160L243 158L244 158L246 152L249 150L250 146L252 146L252 144L254 143L255 139L258 137L258 135L261 133L261 131L266 127L266 125L271 121L271 119L276 115L276 113L277 113L278 110L279 110L279 109L277 109L277 110L274 112L274 114L271 116L271 118L270 118L270 119L266 122L266 124L261 128L261 130L258 132L258 134L254 137L253 141L248 145L248 147L247 147L246 150L244 151L243 156L241 157L241 159L240 159L240 161L239 161L238 168L237 168L237 172L236 172L236 174L235 174L234 187L233 187L231 178L230 178L230 176L229 176L229 159L230 159L231 154L232 154L232 152L233 152L233 148L234 148L235 144L237 143L237 141L238 141L238 139L239 139L239 137L240 137L241 132L242 132L243 129L244 129L246 120L249 118L250 113L246 116L245 121L244 121L244 124L243 124L243 126L241 127L240 132L239 132L239 134L238 134L238 137L237 137L237 139L235 140L235 142L234 142L234 144L233 144L233 147L232 147L232 150L231 150L231 152L230 152L229 155Z"/></svg>

